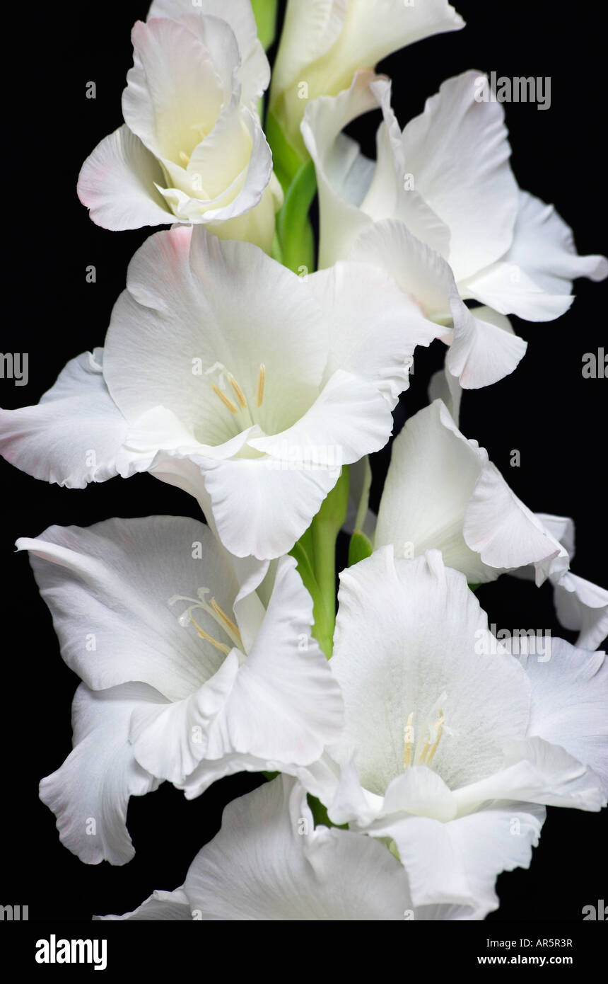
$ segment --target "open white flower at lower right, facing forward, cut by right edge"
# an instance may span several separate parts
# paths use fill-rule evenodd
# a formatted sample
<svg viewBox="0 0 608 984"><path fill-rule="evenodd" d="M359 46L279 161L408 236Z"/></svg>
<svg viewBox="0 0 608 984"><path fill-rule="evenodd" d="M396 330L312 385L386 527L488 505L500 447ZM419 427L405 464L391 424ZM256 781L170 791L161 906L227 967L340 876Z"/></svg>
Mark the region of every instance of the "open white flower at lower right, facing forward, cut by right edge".
<svg viewBox="0 0 608 984"><path fill-rule="evenodd" d="M332 822L395 841L415 905L482 917L499 872L529 864L545 804L606 803L604 653L553 640L549 660L510 654L436 551L385 547L341 581L345 730L299 774Z"/></svg>

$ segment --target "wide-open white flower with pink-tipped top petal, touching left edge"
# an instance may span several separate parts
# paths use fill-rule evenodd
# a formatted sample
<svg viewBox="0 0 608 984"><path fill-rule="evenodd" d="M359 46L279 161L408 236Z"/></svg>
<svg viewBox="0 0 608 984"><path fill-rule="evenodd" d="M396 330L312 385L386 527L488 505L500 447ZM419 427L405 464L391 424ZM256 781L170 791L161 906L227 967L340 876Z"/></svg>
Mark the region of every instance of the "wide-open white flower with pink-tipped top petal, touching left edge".
<svg viewBox="0 0 608 984"><path fill-rule="evenodd" d="M212 512L232 553L279 557L341 465L386 444L435 331L378 268L298 277L179 226L132 260L103 365L85 353L37 406L4 411L0 449L70 487L152 471Z"/></svg>

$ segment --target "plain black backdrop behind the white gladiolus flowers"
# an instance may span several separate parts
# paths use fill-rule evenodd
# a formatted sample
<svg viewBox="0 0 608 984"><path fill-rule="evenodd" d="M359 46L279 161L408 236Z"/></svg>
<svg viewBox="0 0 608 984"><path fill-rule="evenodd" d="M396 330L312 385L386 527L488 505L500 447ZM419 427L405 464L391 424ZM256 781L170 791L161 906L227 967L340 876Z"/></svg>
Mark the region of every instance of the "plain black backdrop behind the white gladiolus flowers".
<svg viewBox="0 0 608 984"><path fill-rule="evenodd" d="M370 0L371 2L371 0ZM604 161L601 151L605 29L595 5L513 4L462 0L464 31L415 44L380 66L393 78L401 125L421 111L425 97L449 76L469 68L513 76L550 76L551 108L506 105L521 186L556 205L575 229L581 253L606 249L602 236ZM5 38L20 53L5 115L4 238L10 279L4 290L3 350L29 353L28 387L0 381L7 407L36 402L68 359L102 344L110 311L125 284L127 265L153 231L111 232L95 226L76 196L86 154L122 122L121 92L132 64L130 30L145 2L114 0L55 9L52 19L22 5ZM97 97L85 98L86 83ZM5 103L6 106L6 103ZM378 119L358 136L373 154ZM8 216L6 215L8 211ZM605 217L605 216L604 216ZM94 265L95 283L85 282ZM513 319L529 341L524 362L501 383L466 394L461 429L486 447L514 490L535 511L573 516L575 573L606 584L606 380L581 376L581 357L604 345L606 288L586 280L558 322ZM420 350L418 350L420 352ZM426 401L430 372L442 363L435 342L416 353L410 392L396 412L400 428ZM519 449L521 467L510 467ZM388 461L375 456L374 495ZM155 888L180 885L197 849L218 830L223 806L259 783L255 775L224 779L187 803L168 783L134 798L128 826L136 857L122 868L85 866L64 848L54 817L37 799L37 783L57 769L71 748L70 706L77 678L64 665L50 615L37 595L25 555L13 556L20 536L51 523L88 525L113 516L196 515L185 493L148 475L67 490L37 482L0 461L3 489L2 819L6 826L0 903L28 904L30 920L89 920L92 913L124 912ZM548 585L503 578L478 592L499 627L560 631ZM603 816L549 810L529 872L502 875L501 908L491 920L578 920L585 904L608 897L601 865Z"/></svg>

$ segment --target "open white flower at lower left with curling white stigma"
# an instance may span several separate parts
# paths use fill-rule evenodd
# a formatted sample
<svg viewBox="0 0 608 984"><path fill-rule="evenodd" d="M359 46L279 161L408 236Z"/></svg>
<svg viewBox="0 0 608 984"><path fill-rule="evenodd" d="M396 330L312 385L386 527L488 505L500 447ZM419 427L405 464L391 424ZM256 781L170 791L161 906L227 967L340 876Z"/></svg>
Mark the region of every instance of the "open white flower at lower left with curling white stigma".
<svg viewBox="0 0 608 984"><path fill-rule="evenodd" d="M83 861L130 860L129 798L162 779L193 798L232 772L294 770L336 739L342 698L293 558L262 585L267 564L176 517L51 526L17 546L83 680L74 751L40 783Z"/></svg>

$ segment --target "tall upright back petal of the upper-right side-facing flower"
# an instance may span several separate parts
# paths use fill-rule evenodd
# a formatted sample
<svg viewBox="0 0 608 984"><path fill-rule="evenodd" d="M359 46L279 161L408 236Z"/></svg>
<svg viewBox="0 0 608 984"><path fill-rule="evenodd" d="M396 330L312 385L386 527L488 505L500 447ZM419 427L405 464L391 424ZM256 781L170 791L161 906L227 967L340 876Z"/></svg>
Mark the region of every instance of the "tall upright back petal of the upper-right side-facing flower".
<svg viewBox="0 0 608 984"><path fill-rule="evenodd" d="M415 188L450 228L457 280L504 256L518 214L504 110L476 100L482 78L471 71L444 82L403 133Z"/></svg>

